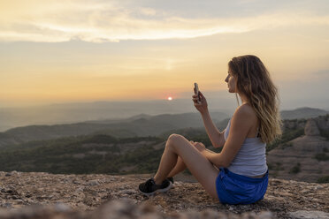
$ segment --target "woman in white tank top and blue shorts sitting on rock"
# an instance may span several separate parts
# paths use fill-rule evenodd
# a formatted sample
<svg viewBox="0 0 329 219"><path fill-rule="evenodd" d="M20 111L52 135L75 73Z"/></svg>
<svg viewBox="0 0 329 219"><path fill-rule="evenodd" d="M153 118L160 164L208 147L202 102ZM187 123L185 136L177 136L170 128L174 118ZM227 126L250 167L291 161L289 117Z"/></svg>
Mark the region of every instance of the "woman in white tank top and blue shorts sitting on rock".
<svg viewBox="0 0 329 219"><path fill-rule="evenodd" d="M169 190L172 177L188 168L205 191L222 203L250 204L264 198L268 184L265 147L281 134L278 90L262 61L250 55L232 58L225 81L228 91L241 97L241 106L223 132L211 121L203 94L193 95L213 147L223 147L222 151L214 153L203 143L172 134L157 174L139 186L142 193Z"/></svg>

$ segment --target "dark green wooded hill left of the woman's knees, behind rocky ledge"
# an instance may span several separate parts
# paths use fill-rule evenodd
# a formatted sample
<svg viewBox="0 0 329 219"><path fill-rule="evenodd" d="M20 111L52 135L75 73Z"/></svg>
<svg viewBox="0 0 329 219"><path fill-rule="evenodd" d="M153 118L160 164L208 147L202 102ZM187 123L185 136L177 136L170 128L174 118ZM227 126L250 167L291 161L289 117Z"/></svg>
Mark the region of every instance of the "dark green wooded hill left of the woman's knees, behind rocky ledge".
<svg viewBox="0 0 329 219"><path fill-rule="evenodd" d="M155 137L116 139L109 135L30 142L1 150L0 170L147 173L157 169L165 146L162 142Z"/></svg>

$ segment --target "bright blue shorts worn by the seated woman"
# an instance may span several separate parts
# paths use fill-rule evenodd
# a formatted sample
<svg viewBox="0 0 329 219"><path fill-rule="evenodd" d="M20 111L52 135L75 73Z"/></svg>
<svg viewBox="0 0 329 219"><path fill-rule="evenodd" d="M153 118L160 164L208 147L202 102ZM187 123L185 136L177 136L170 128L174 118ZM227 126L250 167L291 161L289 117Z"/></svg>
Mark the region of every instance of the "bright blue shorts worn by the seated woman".
<svg viewBox="0 0 329 219"><path fill-rule="evenodd" d="M269 181L268 171L264 177L245 177L220 168L216 178L218 199L223 204L251 204L262 200Z"/></svg>

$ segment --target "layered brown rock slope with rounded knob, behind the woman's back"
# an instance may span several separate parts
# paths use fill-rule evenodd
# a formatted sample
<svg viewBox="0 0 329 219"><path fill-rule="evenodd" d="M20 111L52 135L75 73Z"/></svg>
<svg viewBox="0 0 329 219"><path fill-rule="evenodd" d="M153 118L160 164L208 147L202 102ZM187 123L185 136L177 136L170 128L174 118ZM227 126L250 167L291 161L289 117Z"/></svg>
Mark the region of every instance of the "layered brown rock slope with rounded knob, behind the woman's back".
<svg viewBox="0 0 329 219"><path fill-rule="evenodd" d="M317 182L329 176L329 141L319 135L318 124L322 129L329 127L323 118L310 118L304 128L305 135L268 153L266 158L272 177Z"/></svg>

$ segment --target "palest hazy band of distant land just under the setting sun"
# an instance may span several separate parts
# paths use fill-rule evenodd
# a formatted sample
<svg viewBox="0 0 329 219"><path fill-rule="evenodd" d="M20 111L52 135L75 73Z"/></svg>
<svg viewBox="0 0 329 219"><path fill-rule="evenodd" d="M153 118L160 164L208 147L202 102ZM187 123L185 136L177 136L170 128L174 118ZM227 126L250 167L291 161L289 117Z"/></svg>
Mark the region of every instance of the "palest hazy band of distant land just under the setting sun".
<svg viewBox="0 0 329 219"><path fill-rule="evenodd" d="M210 111L228 112L235 105L233 99L217 98L216 102L212 102ZM73 102L21 108L0 108L0 132L27 125L62 125L90 120L115 122L139 114L156 116L187 112L196 112L191 99L174 99L170 102L167 100Z"/></svg>

